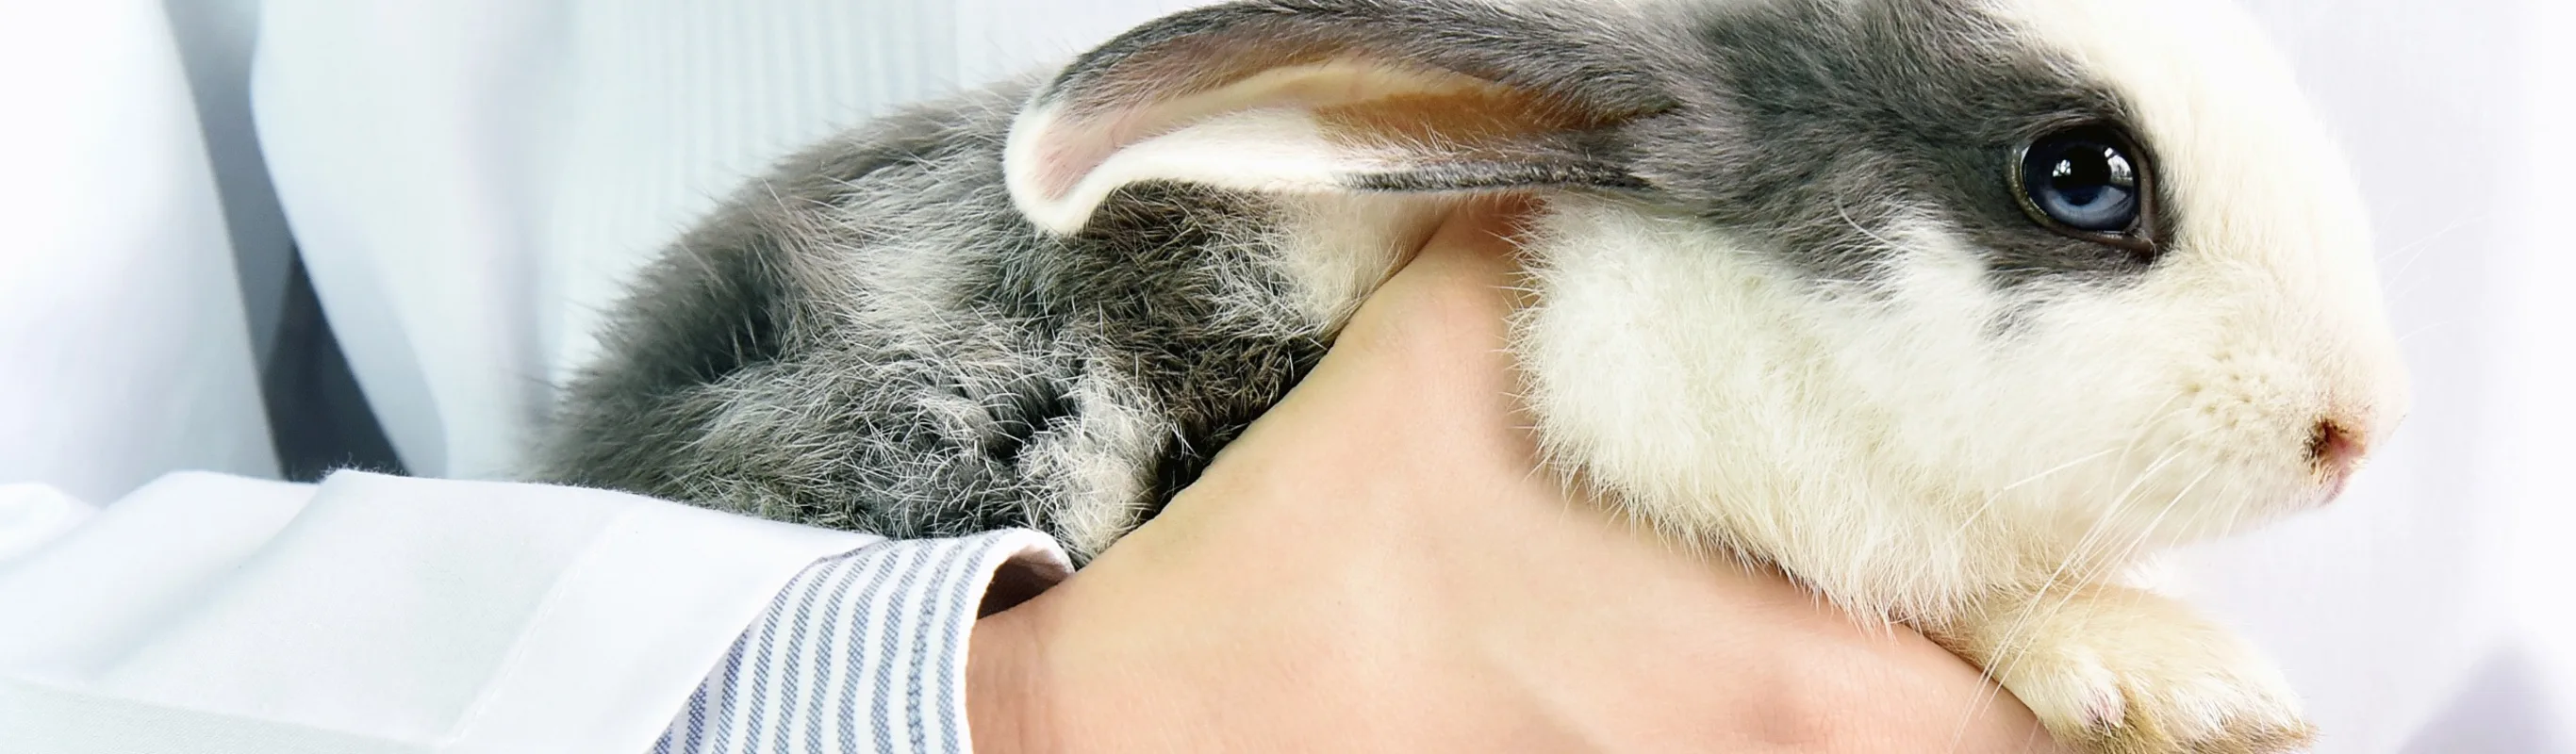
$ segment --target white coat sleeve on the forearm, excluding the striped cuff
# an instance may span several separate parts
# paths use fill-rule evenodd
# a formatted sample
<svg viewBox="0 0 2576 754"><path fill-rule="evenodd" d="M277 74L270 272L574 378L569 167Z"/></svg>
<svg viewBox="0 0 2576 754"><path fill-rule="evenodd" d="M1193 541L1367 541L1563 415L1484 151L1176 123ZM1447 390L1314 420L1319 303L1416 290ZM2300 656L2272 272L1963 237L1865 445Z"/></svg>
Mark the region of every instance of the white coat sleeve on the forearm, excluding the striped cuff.
<svg viewBox="0 0 2576 754"><path fill-rule="evenodd" d="M873 540L592 489L175 474L0 561L0 751L647 751L791 576Z"/></svg>

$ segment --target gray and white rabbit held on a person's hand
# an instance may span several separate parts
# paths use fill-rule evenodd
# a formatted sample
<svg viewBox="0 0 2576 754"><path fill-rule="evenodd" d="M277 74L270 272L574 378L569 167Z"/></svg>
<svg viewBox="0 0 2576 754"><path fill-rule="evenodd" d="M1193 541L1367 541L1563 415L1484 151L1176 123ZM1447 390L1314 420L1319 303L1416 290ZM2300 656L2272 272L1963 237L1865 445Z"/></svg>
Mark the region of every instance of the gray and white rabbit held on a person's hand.
<svg viewBox="0 0 2576 754"><path fill-rule="evenodd" d="M1249 0L786 160L639 273L541 479L1108 548L1409 250L1530 196L1546 468L2084 751L2311 741L2133 564L2406 414L2362 203L2223 0Z"/></svg>

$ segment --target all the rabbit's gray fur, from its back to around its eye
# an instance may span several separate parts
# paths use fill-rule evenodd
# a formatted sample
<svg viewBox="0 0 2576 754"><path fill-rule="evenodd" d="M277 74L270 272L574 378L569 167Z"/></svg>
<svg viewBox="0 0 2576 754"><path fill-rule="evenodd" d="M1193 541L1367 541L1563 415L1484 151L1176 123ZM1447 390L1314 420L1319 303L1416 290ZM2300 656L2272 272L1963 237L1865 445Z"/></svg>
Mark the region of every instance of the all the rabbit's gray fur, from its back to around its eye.
<svg viewBox="0 0 2576 754"><path fill-rule="evenodd" d="M1151 517L1334 322L1301 314L1270 262L1265 198L1133 185L1051 237L1012 208L1002 139L1020 103L1105 108L1188 69L1157 54L1247 44L1445 67L1602 124L1512 160L1352 175L1355 190L1613 193L1837 280L1873 275L1896 208L1994 250L1996 286L2146 265L2022 216L2012 147L2125 108L1963 0L1234 3L1131 31L1036 98L969 93L781 165L636 280L538 476L896 538L1061 533L1092 494L1128 497L1121 530Z"/></svg>

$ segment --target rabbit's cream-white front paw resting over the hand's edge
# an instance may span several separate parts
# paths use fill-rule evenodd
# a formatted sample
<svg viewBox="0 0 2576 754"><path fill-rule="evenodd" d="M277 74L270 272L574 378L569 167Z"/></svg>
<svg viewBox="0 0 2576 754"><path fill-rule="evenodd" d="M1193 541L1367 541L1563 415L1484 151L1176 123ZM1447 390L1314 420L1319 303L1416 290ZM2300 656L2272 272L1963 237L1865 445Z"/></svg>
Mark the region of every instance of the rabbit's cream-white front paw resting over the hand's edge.
<svg viewBox="0 0 2576 754"><path fill-rule="evenodd" d="M2316 728L2280 672L2184 605L2084 587L2020 600L1945 636L2076 751L2259 754L2308 746Z"/></svg>

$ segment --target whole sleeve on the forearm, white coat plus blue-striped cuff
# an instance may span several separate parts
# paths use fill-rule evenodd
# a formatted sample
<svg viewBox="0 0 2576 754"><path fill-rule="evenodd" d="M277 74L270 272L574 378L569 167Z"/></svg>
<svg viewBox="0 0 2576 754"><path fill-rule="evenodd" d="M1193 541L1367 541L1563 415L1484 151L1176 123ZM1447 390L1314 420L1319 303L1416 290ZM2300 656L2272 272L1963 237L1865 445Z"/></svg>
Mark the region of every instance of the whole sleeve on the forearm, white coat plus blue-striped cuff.
<svg viewBox="0 0 2576 754"><path fill-rule="evenodd" d="M1064 574L1036 533L180 474L0 564L0 751L966 751L1005 564L1020 594Z"/></svg>

